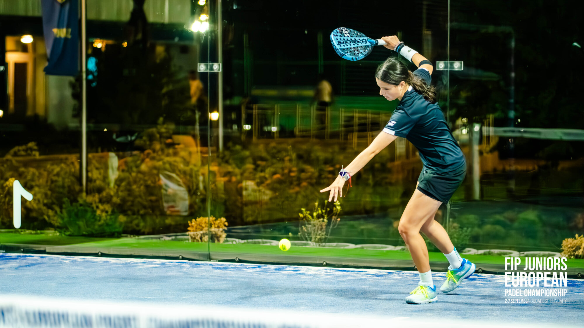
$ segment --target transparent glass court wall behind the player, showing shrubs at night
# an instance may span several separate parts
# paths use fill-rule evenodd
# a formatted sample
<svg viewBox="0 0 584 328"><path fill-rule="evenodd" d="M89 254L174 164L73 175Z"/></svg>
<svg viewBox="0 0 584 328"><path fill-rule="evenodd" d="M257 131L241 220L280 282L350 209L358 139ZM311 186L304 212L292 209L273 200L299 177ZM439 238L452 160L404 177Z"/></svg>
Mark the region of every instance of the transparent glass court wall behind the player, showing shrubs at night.
<svg viewBox="0 0 584 328"><path fill-rule="evenodd" d="M422 163L406 139L354 175L338 203L319 193L398 104L374 79L397 54L377 47L343 60L329 43L341 26L397 35L434 64L439 106L467 159L464 183L434 218L458 250L500 264L489 255L561 252L584 227L582 74L562 65L583 53L567 3L552 14L525 1L88 0L85 193L81 75L44 74L36 1L1 4L3 245L413 266L399 261L410 257L397 227ZM34 196L19 233L15 180Z"/></svg>

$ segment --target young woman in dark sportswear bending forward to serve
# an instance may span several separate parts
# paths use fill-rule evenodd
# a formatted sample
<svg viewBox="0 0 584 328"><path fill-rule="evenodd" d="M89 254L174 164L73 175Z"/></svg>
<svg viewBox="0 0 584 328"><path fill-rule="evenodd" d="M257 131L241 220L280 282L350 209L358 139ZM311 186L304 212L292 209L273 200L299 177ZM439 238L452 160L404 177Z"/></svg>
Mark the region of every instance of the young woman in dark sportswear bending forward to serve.
<svg viewBox="0 0 584 328"><path fill-rule="evenodd" d="M444 114L436 103L436 92L430 86L433 66L418 51L405 46L397 36L381 38L384 47L397 51L418 69L411 72L395 57L387 58L377 67L375 79L379 94L387 100L399 99L399 105L385 125L383 132L371 142L346 168L331 186L321 190L331 191L329 201L343 197L343 186L373 156L397 137L408 139L418 149L423 163L416 190L399 219L398 231L402 236L413 262L418 268L420 281L405 301L424 304L437 301L437 290L432 280L426 243L420 231L429 238L449 261L446 281L440 291L447 293L458 287L475 270L475 264L462 259L450 241L442 225L434 220L440 204L447 203L466 175L464 154L444 120ZM348 189L347 189L348 190Z"/></svg>

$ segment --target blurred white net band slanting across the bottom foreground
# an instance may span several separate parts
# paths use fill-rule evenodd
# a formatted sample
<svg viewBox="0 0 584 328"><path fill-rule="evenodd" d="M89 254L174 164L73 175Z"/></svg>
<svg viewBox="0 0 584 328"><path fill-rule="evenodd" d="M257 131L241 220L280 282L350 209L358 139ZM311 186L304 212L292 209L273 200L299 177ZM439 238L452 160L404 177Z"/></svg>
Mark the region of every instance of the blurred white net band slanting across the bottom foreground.
<svg viewBox="0 0 584 328"><path fill-rule="evenodd" d="M422 305L425 306L425 305ZM501 323L468 320L425 320L420 317L346 315L315 311L264 310L219 306L185 306L138 302L111 302L53 299L21 295L0 295L0 327L265 327L265 328L343 328L405 327L562 327L533 322Z"/></svg>

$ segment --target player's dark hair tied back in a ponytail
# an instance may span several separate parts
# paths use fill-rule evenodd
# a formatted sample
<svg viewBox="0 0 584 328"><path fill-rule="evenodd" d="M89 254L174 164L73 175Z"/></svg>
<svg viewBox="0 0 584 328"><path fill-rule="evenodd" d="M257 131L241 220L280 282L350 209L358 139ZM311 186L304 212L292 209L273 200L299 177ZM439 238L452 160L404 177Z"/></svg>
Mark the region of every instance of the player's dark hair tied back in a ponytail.
<svg viewBox="0 0 584 328"><path fill-rule="evenodd" d="M375 77L391 85L399 85L401 81L405 81L405 83L408 83L422 93L424 99L430 103L436 103L436 88L432 85L427 85L423 79L413 75L408 67L399 61L398 58L387 58L387 60L377 67Z"/></svg>

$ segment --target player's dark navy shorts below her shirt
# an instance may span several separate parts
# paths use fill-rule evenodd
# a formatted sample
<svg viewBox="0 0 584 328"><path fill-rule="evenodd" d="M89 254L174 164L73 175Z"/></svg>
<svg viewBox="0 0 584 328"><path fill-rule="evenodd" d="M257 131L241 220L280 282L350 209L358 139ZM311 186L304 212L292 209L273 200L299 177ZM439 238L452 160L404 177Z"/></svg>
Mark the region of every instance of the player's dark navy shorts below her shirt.
<svg viewBox="0 0 584 328"><path fill-rule="evenodd" d="M418 189L422 194L442 203L448 203L454 191L463 183L467 175L467 164L450 171L434 171L422 168L418 177Z"/></svg>

